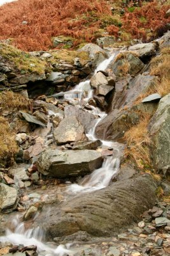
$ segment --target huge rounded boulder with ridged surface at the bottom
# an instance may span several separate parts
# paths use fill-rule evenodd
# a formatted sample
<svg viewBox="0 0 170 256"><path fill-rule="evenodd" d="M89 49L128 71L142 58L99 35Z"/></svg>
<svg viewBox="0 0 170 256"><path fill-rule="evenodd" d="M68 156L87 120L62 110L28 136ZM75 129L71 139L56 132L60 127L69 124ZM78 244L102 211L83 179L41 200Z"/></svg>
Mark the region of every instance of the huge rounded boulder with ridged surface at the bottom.
<svg viewBox="0 0 170 256"><path fill-rule="evenodd" d="M36 225L43 223L48 239L80 230L93 236L112 236L140 220L141 214L153 207L155 189L150 175L116 182L94 193L53 204L50 218L43 211Z"/></svg>

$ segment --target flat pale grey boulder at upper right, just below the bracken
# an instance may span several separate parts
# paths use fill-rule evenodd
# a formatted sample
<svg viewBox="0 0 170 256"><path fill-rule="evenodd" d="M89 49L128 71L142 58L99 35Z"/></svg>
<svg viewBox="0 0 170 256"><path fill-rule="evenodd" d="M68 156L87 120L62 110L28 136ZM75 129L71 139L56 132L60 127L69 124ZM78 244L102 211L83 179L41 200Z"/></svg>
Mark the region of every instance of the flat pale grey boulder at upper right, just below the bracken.
<svg viewBox="0 0 170 256"><path fill-rule="evenodd" d="M138 54L139 58L144 58L146 56L153 56L157 51L157 44L146 43L146 44L135 44L129 47L129 51L134 51Z"/></svg>

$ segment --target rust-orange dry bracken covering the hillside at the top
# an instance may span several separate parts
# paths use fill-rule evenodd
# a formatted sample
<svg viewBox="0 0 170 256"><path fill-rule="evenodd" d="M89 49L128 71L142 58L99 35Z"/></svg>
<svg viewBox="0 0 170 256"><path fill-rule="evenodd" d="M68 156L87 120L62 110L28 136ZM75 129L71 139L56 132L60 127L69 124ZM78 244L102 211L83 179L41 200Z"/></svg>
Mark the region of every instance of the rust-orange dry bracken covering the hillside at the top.
<svg viewBox="0 0 170 256"><path fill-rule="evenodd" d="M122 40L150 40L166 30L169 7L143 1L121 14L120 0L18 0L0 7L0 38L11 38L24 51L52 49L53 36L71 36L74 45L95 42L101 29Z"/></svg>

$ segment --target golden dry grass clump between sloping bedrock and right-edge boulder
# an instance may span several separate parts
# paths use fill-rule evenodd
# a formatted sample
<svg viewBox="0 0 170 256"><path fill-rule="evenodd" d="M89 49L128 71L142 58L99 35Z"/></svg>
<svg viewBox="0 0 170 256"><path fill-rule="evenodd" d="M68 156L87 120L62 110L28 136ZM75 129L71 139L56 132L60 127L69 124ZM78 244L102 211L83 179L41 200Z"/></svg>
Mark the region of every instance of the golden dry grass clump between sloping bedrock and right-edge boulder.
<svg viewBox="0 0 170 256"><path fill-rule="evenodd" d="M148 146L152 143L148 134L150 115L145 114L138 125L132 126L125 132L124 140L127 142L125 159L135 163L139 169L149 168L152 164Z"/></svg>

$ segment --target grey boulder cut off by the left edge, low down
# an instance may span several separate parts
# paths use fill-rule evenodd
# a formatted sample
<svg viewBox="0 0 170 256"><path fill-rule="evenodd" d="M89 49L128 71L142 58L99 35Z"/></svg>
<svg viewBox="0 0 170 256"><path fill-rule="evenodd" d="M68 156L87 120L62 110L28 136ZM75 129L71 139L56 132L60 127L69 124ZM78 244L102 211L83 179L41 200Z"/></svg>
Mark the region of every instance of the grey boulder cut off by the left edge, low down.
<svg viewBox="0 0 170 256"><path fill-rule="evenodd" d="M0 183L0 212L11 212L17 208L17 189Z"/></svg>

